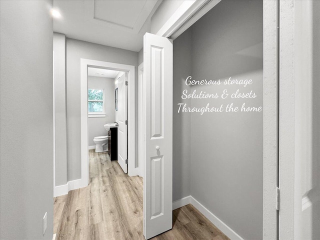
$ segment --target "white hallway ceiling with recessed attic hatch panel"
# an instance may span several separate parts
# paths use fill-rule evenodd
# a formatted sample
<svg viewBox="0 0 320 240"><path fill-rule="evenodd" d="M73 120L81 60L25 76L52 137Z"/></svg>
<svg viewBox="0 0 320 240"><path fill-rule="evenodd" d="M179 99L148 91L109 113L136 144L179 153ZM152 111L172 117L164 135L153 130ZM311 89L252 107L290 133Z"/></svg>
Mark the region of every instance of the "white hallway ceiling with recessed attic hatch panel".
<svg viewBox="0 0 320 240"><path fill-rule="evenodd" d="M139 51L162 0L53 0L53 30L66 37Z"/></svg>

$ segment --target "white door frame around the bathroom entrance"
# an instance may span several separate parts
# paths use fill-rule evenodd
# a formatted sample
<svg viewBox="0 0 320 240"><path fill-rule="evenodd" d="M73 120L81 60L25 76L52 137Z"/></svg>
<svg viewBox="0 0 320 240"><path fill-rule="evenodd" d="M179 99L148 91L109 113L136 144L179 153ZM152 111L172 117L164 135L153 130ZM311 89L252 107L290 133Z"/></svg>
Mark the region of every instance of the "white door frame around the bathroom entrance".
<svg viewBox="0 0 320 240"><path fill-rule="evenodd" d="M136 175L135 160L135 84L134 65L80 59L80 103L81 103L81 187L89 182L88 162L88 113L87 113L87 68L89 66L124 71L128 73L128 175Z"/></svg>

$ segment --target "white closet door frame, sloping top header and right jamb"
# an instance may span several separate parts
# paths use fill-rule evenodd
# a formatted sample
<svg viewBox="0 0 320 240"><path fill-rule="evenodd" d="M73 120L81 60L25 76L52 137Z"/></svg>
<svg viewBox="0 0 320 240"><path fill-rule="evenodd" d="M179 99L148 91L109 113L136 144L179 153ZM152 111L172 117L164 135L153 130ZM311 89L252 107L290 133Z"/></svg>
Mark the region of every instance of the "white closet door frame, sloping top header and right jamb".
<svg viewBox="0 0 320 240"><path fill-rule="evenodd" d="M183 1L156 35L174 40L219 1ZM277 239L278 231L278 1L263 0L263 239Z"/></svg>

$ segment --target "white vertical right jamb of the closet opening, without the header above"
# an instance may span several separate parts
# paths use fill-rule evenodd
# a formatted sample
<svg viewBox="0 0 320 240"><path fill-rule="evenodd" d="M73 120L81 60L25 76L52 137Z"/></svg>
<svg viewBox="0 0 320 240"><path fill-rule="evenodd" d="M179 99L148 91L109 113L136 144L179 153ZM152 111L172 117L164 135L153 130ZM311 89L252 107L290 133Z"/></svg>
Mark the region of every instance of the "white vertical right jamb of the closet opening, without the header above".
<svg viewBox="0 0 320 240"><path fill-rule="evenodd" d="M278 239L279 5L263 1L263 239Z"/></svg>

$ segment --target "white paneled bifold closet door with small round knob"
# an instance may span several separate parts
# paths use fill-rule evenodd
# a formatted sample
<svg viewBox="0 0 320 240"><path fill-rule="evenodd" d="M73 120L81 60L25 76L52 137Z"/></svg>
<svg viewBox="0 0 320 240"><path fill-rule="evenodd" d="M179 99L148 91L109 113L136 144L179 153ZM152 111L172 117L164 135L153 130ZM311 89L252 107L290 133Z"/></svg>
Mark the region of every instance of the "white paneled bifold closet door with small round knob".
<svg viewBox="0 0 320 240"><path fill-rule="evenodd" d="M143 234L172 228L172 40L145 33L145 170Z"/></svg>

